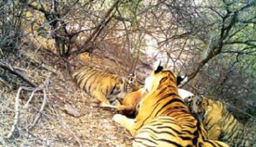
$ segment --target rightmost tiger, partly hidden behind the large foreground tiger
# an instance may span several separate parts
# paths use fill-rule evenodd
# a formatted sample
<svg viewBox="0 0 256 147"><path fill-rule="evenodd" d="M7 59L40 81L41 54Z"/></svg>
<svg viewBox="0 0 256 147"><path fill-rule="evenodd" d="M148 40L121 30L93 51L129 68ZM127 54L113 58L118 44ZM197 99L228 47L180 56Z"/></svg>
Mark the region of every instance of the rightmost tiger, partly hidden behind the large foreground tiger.
<svg viewBox="0 0 256 147"><path fill-rule="evenodd" d="M249 128L239 123L222 101L198 95L184 101L191 112L203 122L209 139L226 142L231 147L252 147L253 136Z"/></svg>

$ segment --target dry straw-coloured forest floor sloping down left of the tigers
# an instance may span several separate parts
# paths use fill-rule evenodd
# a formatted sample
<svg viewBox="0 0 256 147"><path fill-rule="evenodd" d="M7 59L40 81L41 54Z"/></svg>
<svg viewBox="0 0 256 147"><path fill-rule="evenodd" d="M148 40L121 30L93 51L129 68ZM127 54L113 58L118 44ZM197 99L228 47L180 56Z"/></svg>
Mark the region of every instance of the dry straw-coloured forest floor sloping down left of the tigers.
<svg viewBox="0 0 256 147"><path fill-rule="evenodd" d="M86 55L80 58L86 60ZM80 90L66 74L65 68L53 63L53 60L54 57L50 55L40 52L35 54L29 50L9 60L12 68L40 85L38 89L43 87L46 91L36 91L26 107L32 91L36 89L24 89L16 99L19 87L30 86L19 77L7 73L14 81L13 85L5 85L0 90L0 142L3 144L0 146L131 146L132 137L129 132L112 120L114 112L97 107L95 100ZM79 67L80 61L71 63ZM102 71L119 72L115 70L118 67L113 66L113 60L97 55L90 61L82 62L85 63ZM50 83L45 84L46 79ZM19 131L11 131L16 120L16 106L19 112L16 126ZM69 110L75 111L73 113L77 117L67 113ZM12 135L8 136L9 133Z"/></svg>

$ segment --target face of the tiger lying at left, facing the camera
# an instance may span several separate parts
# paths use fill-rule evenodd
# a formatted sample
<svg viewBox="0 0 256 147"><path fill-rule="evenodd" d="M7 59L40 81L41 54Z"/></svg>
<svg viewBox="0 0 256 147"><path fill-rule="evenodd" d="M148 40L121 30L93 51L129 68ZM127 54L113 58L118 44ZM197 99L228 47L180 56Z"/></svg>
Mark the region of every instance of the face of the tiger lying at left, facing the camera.
<svg viewBox="0 0 256 147"><path fill-rule="evenodd" d="M131 73L126 77L121 77L120 80L121 83L123 83L124 92L133 92L139 89L138 82L136 81L136 75L134 73Z"/></svg>

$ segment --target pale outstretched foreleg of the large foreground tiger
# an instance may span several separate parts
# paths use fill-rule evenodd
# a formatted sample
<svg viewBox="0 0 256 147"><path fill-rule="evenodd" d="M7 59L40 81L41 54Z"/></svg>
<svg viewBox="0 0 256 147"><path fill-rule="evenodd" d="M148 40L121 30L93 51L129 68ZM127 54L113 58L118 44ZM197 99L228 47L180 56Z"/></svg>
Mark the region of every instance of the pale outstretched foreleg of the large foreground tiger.
<svg viewBox="0 0 256 147"><path fill-rule="evenodd" d="M135 119L129 119L121 114L115 114L113 120L121 126L125 127L131 133L132 136L135 136Z"/></svg>

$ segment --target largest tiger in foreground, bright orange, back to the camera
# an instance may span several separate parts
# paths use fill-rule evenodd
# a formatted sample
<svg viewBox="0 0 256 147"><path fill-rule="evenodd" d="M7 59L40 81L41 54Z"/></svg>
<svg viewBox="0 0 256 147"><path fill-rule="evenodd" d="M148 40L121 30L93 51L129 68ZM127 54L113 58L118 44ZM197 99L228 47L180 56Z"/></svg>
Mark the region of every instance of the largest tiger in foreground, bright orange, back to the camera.
<svg viewBox="0 0 256 147"><path fill-rule="evenodd" d="M159 65L145 79L145 88L149 93L140 101L135 119L113 117L134 136L133 147L228 147L207 140L202 123L178 95L177 78L171 71Z"/></svg>

